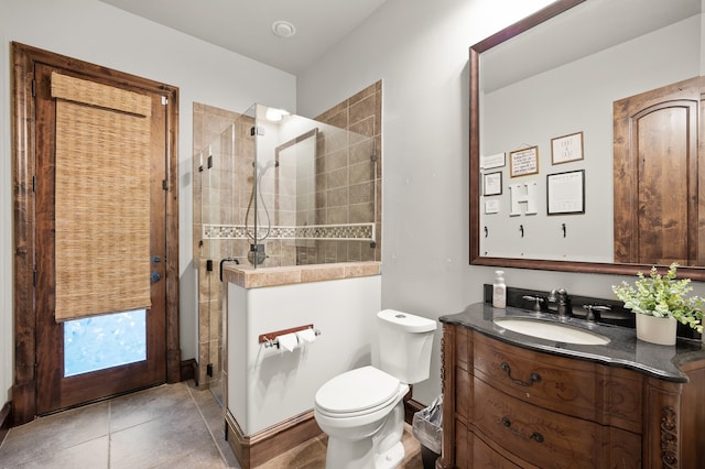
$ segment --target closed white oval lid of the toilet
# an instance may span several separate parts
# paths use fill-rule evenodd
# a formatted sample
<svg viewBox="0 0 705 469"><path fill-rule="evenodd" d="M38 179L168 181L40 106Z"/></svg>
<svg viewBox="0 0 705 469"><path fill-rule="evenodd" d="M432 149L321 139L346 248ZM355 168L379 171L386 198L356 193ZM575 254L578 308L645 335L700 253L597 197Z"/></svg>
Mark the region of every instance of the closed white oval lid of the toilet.
<svg viewBox="0 0 705 469"><path fill-rule="evenodd" d="M394 399L399 380L373 367L339 374L316 393L316 404L329 413L350 413L376 407Z"/></svg>

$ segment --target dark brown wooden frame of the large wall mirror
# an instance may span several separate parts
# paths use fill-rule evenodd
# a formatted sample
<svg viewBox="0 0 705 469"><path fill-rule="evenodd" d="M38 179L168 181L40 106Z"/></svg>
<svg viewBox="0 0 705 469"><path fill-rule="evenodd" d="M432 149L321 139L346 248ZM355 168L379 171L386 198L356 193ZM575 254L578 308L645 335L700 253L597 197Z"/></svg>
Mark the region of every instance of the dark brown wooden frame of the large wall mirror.
<svg viewBox="0 0 705 469"><path fill-rule="evenodd" d="M612 275L636 275L637 272L648 272L650 264L619 264L603 262L571 262L550 261L519 258L487 258L480 257L480 114L479 114L479 58L480 54L489 51L510 39L534 28L551 18L570 10L586 0L557 0L538 12L511 24L491 36L473 45L469 51L470 78L470 184L469 184L469 225L470 225L470 265L488 265L516 269L533 269L561 272L597 273ZM660 265L663 271L668 265ZM660 269L661 270L661 269ZM679 277L690 277L705 281L705 269L694 266L679 268Z"/></svg>

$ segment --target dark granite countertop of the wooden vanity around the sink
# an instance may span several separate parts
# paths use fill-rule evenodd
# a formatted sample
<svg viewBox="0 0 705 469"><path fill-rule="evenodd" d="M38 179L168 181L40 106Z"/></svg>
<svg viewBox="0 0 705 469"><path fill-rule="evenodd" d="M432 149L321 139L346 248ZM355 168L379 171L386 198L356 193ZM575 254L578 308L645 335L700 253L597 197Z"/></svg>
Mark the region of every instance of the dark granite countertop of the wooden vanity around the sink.
<svg viewBox="0 0 705 469"><path fill-rule="evenodd" d="M610 341L606 345L587 346L545 340L502 328L494 323L495 318L500 317L561 323L599 334ZM512 306L498 309L487 303L476 303L463 313L441 316L438 320L464 326L525 349L628 368L666 381L687 382L687 375L679 369L679 363L705 359L705 347L701 340L679 338L675 346L659 346L637 340L637 331L628 327L596 324L575 317L562 320L555 314L535 313Z"/></svg>

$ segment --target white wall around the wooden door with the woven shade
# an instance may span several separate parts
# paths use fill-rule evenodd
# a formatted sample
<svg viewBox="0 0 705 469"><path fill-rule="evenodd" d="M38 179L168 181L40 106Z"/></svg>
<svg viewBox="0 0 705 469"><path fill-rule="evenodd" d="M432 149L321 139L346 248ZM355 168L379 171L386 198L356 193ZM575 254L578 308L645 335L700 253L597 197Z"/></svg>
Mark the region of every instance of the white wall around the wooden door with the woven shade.
<svg viewBox="0 0 705 469"><path fill-rule="evenodd" d="M296 78L97 0L2 0L0 10L0 407L13 383L14 347L10 41L180 88L181 346L182 359L195 358L189 161L193 102L241 112L254 102L294 110Z"/></svg>

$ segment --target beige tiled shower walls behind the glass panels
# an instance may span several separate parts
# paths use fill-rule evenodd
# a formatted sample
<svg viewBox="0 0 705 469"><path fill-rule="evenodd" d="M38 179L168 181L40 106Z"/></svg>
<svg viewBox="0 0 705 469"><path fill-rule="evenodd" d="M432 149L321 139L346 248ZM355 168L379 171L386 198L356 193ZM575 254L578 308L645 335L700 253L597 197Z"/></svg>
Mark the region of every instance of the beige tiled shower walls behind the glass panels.
<svg viewBox="0 0 705 469"><path fill-rule="evenodd" d="M315 118L356 134L338 141L332 132L318 133L315 223L356 223L375 219L376 242L316 240L293 244L267 239L268 259L261 268L381 260L381 99L382 84L378 81ZM210 388L219 399L225 355L223 285L218 264L225 257L235 257L247 265L249 242L243 239L204 239L203 226L213 222L237 225L245 220L252 184L253 145L249 140L236 139L236 149L229 148L231 140L227 133L223 134L232 122L236 122L236 132L249 132L253 123L237 112L194 103L193 249L194 263L198 269L197 380L200 389ZM230 167L219 166L219 172L209 174L207 170L199 171L200 154L205 166L208 146L213 142L220 143L216 146L221 153L234 150L236 161L230 162ZM214 159L219 156L214 154ZM371 166L370 157L376 160ZM376 174L370 174L370 167ZM275 209L280 208L275 206ZM213 271L206 269L208 259L213 260ZM212 366L212 375L207 373L207 364Z"/></svg>

